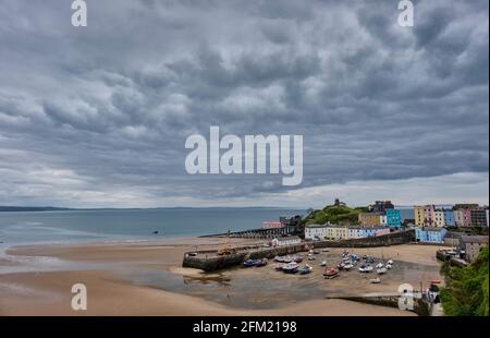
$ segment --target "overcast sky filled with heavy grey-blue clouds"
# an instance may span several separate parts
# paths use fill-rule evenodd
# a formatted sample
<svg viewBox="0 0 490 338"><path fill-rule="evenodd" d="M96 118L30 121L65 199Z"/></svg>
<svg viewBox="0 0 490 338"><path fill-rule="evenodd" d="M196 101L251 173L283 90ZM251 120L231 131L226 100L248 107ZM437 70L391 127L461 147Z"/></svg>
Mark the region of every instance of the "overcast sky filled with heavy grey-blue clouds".
<svg viewBox="0 0 490 338"><path fill-rule="evenodd" d="M0 205L489 200L488 0L0 0ZM304 179L189 176L188 135L304 135Z"/></svg>

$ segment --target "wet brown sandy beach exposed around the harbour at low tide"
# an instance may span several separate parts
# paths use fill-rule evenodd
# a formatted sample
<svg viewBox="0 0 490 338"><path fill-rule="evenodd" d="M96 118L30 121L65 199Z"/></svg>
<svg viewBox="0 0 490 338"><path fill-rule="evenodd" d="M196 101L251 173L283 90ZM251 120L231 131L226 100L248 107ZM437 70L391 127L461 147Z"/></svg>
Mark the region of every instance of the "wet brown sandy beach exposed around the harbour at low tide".
<svg viewBox="0 0 490 338"><path fill-rule="evenodd" d="M382 249L399 266L382 285L368 283L356 271L327 282L320 268L301 277L274 271L271 265L216 274L181 267L184 252L222 244L221 239L184 238L10 248L0 258L0 315L414 315L327 295L345 288L357 294L395 291L401 282L440 277L438 248L411 244ZM380 251L356 253L379 256ZM87 287L87 311L71 309L71 287L77 282Z"/></svg>

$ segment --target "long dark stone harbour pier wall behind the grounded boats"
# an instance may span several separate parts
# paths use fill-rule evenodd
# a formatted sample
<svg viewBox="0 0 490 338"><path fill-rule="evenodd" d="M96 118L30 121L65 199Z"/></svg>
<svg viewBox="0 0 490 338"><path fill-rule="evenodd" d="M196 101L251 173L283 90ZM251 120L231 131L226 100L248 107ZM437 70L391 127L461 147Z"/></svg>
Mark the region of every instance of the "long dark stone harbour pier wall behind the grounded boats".
<svg viewBox="0 0 490 338"><path fill-rule="evenodd" d="M303 242L301 244L275 248L235 248L228 255L218 255L217 251L187 252L184 254L182 266L213 271L241 265L246 259L273 258L275 256L294 254L304 251L305 244L314 248L376 248L411 243L414 240L414 230L405 230L352 240Z"/></svg>

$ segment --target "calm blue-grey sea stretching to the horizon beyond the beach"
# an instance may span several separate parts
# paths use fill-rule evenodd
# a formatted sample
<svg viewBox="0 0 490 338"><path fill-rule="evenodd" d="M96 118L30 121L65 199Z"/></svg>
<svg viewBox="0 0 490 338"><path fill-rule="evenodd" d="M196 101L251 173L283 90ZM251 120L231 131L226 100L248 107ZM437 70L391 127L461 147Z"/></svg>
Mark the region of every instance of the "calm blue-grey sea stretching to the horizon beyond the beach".
<svg viewBox="0 0 490 338"><path fill-rule="evenodd" d="M260 228L266 220L305 214L303 209L281 208L0 213L0 245L158 240Z"/></svg>

